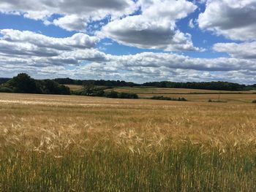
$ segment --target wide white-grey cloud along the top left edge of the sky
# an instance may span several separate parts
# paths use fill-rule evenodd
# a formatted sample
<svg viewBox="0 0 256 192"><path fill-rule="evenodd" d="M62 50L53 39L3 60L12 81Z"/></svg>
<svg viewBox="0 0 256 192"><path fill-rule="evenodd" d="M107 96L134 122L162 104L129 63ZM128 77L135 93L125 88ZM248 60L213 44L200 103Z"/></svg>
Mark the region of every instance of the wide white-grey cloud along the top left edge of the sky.
<svg viewBox="0 0 256 192"><path fill-rule="evenodd" d="M61 15L53 24L69 31L83 31L90 20L101 20L107 15L119 18L136 9L132 0L1 0L0 12L23 14L26 18L46 20L53 14Z"/></svg>

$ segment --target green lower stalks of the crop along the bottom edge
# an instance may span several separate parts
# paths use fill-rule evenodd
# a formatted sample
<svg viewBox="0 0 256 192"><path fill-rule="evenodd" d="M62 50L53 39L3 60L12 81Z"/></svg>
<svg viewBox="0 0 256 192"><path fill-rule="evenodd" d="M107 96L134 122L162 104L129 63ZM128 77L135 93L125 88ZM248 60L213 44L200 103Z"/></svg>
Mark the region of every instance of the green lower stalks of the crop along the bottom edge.
<svg viewBox="0 0 256 192"><path fill-rule="evenodd" d="M154 154L121 151L11 153L1 191L255 191L256 155L204 153L195 145Z"/></svg>

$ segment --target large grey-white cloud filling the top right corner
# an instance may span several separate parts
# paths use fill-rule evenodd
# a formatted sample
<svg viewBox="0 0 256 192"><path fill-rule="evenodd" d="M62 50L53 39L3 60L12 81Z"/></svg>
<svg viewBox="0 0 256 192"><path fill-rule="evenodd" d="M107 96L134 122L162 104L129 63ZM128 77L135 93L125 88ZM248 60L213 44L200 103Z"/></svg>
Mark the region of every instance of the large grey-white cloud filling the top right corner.
<svg viewBox="0 0 256 192"><path fill-rule="evenodd" d="M208 0L197 22L200 28L229 39L256 39L255 0Z"/></svg>

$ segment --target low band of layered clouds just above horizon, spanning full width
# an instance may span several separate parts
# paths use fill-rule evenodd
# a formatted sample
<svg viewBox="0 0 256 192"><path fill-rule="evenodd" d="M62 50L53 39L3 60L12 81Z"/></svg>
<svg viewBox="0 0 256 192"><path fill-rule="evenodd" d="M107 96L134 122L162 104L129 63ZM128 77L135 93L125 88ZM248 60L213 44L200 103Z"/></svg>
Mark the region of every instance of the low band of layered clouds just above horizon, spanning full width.
<svg viewBox="0 0 256 192"><path fill-rule="evenodd" d="M0 53L0 68L2 77L27 72L37 78L74 77L135 82L232 80L252 83L256 80L256 62L249 59L191 58L174 53L107 55L95 49L64 51L48 57L29 55L25 58Z"/></svg>

